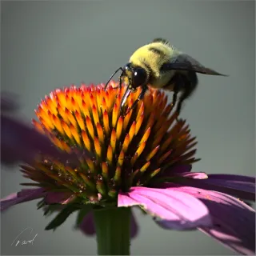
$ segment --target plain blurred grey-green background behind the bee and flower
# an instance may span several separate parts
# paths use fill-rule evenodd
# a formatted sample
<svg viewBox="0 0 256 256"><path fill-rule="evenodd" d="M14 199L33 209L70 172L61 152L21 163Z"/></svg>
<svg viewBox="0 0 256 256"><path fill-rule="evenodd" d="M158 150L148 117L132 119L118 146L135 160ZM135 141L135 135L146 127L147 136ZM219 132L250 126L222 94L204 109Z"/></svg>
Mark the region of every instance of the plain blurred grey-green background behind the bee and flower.
<svg viewBox="0 0 256 256"><path fill-rule="evenodd" d="M6 1L1 7L1 90L19 95L20 118L30 122L54 88L106 82L138 46L162 37L230 75L199 75L182 111L198 136L202 161L194 170L254 175L253 1ZM20 190L24 179L15 170L2 166L1 197ZM233 254L205 234L161 230L136 214L141 229L132 254ZM73 230L75 215L54 232L44 230L50 219L36 202L2 214L1 253L96 254L95 239ZM38 234L34 245L10 246L26 227Z"/></svg>

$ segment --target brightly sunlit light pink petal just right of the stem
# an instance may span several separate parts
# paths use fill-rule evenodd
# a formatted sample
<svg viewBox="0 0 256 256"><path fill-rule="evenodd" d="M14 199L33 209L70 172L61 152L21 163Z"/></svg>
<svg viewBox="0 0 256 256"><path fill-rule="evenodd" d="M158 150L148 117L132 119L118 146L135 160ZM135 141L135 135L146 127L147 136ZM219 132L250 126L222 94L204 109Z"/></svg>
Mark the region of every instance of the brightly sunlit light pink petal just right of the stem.
<svg viewBox="0 0 256 256"><path fill-rule="evenodd" d="M131 187L118 194L118 207L141 206L156 218L170 221L174 230L186 230L212 224L206 206L190 194L179 191Z"/></svg>

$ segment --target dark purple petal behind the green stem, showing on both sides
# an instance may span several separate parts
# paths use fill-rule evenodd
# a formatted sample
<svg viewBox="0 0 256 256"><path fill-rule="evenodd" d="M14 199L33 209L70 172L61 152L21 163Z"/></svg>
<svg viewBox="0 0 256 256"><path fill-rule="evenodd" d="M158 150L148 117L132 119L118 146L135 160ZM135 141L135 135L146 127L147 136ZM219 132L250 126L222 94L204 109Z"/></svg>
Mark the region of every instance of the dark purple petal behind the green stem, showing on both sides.
<svg viewBox="0 0 256 256"><path fill-rule="evenodd" d="M95 234L95 226L94 226L94 214L90 212L89 214L86 214L86 216L82 219L82 222L80 224L80 230L82 230L82 233L92 236ZM138 224L136 221L136 218L134 217L133 212L131 212L130 217L130 237L135 238L138 234Z"/></svg>

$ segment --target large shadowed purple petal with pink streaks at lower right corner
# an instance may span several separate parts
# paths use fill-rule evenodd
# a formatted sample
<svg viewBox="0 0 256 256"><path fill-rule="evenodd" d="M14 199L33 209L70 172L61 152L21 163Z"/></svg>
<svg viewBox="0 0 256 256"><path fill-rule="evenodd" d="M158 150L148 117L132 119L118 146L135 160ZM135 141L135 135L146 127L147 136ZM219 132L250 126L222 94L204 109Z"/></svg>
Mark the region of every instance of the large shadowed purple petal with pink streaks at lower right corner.
<svg viewBox="0 0 256 256"><path fill-rule="evenodd" d="M170 183L167 190L181 191L200 199L209 209L213 227L201 227L204 233L239 254L255 254L255 211L246 203L220 192ZM160 223L168 226L167 223Z"/></svg>

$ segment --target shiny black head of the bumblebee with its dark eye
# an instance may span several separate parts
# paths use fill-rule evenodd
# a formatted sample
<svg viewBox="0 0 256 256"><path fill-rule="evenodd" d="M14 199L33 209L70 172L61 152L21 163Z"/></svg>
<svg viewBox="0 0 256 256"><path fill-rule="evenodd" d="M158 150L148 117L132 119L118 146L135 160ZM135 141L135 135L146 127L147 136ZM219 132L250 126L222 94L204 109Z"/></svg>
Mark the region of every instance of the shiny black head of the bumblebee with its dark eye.
<svg viewBox="0 0 256 256"><path fill-rule="evenodd" d="M148 81L146 70L140 66L133 66L132 63L128 63L123 67L123 73L122 76L125 82L133 89L144 86Z"/></svg>

